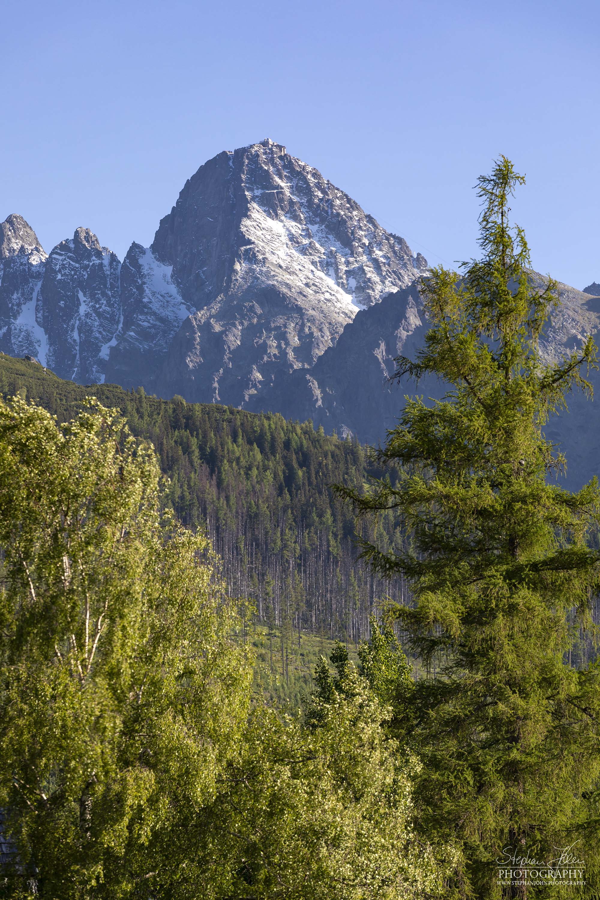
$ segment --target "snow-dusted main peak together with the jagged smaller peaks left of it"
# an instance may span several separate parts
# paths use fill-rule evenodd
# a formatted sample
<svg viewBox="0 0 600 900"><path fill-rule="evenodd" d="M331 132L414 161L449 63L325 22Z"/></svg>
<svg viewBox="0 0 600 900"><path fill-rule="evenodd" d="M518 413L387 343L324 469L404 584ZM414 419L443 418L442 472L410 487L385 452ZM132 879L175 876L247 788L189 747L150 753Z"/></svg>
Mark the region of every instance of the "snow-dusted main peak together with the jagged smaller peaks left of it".
<svg viewBox="0 0 600 900"><path fill-rule="evenodd" d="M234 405L309 368L359 310L427 267L269 139L201 166L122 266L87 229L49 257L20 217L2 229L0 349L80 383Z"/></svg>

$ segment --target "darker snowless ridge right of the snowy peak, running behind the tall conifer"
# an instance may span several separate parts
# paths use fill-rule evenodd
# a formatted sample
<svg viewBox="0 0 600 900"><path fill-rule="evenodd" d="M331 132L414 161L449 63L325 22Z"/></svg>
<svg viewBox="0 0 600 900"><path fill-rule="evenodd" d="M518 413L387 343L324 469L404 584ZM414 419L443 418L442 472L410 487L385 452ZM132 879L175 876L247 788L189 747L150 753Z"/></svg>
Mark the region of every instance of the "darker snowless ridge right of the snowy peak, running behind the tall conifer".
<svg viewBox="0 0 600 900"><path fill-rule="evenodd" d="M533 273L542 287L541 275ZM552 311L541 340L546 362L558 361L581 346L588 334L600 332L600 302L567 284L559 284L560 304ZM358 312L335 347L320 356L308 371L282 374L270 392L248 404L249 409L273 410L291 419L312 419L315 427L341 437L353 434L377 445L385 441L404 407L405 397L420 395L439 400L446 386L433 377L414 383L390 383L396 356L415 358L423 345L427 322L418 285L390 294L380 303ZM566 483L578 488L600 474L600 377L588 374L596 385L596 402L574 392L569 410L552 418L545 428L549 439L567 456Z"/></svg>

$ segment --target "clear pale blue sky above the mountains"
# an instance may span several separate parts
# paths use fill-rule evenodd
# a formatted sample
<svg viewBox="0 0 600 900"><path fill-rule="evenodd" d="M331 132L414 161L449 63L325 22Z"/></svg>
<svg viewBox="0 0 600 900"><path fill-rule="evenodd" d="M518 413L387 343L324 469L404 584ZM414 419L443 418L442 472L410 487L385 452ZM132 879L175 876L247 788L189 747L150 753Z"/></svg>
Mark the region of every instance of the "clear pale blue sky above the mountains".
<svg viewBox="0 0 600 900"><path fill-rule="evenodd" d="M148 245L208 158L270 137L430 262L477 252L504 153L533 264L600 281L600 4L4 0L0 220Z"/></svg>

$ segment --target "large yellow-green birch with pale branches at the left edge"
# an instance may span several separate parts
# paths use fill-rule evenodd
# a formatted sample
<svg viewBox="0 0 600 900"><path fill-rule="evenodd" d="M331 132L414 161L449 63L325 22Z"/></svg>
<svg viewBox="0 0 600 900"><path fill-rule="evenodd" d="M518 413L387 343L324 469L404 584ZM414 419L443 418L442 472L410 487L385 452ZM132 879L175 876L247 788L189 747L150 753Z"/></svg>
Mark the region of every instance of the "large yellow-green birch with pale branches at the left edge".
<svg viewBox="0 0 600 900"><path fill-rule="evenodd" d="M97 401L0 403L0 802L43 897L189 896L170 846L246 723L234 609L158 474Z"/></svg>

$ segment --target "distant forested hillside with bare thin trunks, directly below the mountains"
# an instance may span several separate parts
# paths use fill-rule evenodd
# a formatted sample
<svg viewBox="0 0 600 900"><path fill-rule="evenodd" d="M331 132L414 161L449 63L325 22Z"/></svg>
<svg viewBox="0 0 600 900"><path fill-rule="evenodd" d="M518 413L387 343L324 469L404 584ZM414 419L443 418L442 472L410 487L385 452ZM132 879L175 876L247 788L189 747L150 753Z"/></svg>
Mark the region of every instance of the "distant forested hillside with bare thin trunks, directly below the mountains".
<svg viewBox="0 0 600 900"><path fill-rule="evenodd" d="M156 447L178 518L207 525L229 592L251 600L288 641L300 626L356 644L372 608L402 595L401 582L354 562L353 512L330 487L360 490L381 474L357 441L270 413L163 401L114 384L80 387L12 356L0 356L0 392L39 401L58 421L72 419L91 395L121 410L133 434ZM399 548L389 515L375 528L367 536Z"/></svg>

